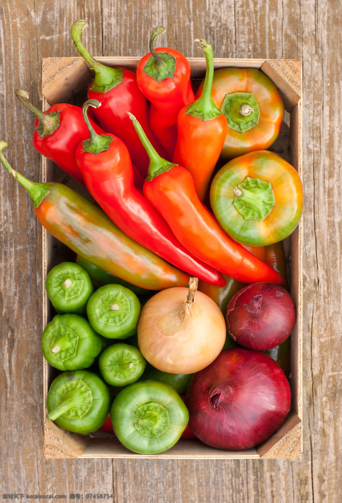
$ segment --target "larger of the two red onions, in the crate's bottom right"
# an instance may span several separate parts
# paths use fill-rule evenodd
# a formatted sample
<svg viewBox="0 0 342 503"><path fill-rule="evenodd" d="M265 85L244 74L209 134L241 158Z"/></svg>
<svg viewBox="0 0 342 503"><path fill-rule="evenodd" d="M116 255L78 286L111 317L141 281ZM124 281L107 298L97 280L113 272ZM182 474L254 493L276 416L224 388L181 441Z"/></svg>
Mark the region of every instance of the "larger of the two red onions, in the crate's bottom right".
<svg viewBox="0 0 342 503"><path fill-rule="evenodd" d="M291 390L272 358L235 348L193 376L185 404L197 438L217 449L242 451L265 442L281 427Z"/></svg>

